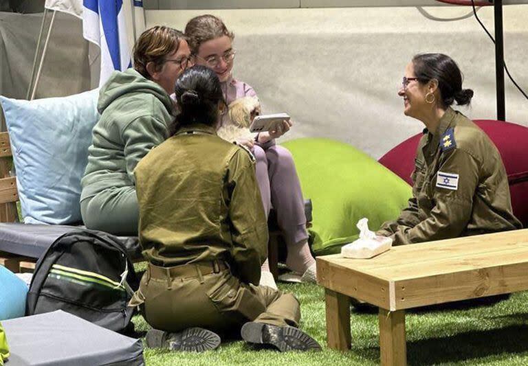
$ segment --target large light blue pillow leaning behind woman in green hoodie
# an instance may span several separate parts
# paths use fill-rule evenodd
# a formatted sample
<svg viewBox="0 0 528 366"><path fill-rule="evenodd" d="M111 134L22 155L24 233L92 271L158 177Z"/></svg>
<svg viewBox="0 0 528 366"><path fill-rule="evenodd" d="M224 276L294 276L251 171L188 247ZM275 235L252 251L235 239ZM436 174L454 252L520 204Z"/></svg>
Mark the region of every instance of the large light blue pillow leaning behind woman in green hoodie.
<svg viewBox="0 0 528 366"><path fill-rule="evenodd" d="M80 179L99 119L98 95L94 89L31 102L0 96L26 224L81 220Z"/></svg>

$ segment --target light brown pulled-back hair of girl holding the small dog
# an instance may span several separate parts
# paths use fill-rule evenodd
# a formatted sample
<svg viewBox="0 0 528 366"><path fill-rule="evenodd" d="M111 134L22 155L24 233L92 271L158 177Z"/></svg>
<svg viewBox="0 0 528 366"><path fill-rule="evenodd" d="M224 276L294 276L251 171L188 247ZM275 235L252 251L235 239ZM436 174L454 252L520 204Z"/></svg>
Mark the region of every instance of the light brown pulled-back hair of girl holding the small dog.
<svg viewBox="0 0 528 366"><path fill-rule="evenodd" d="M223 21L211 14L195 16L190 19L185 26L185 35L189 43L190 52L193 55L198 54L198 49L202 43L214 38L228 36L231 40L234 39L233 32L230 32L228 27L225 27Z"/></svg>

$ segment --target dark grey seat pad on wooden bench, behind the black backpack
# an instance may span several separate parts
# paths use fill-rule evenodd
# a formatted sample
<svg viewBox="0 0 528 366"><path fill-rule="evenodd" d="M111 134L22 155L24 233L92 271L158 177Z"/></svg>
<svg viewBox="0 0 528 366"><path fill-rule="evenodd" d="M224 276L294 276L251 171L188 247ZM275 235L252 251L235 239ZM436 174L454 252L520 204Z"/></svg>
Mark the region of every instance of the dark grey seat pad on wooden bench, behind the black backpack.
<svg viewBox="0 0 528 366"><path fill-rule="evenodd" d="M29 225L0 222L0 251L39 259L61 235L83 227L69 225ZM137 237L120 236L132 258L141 257Z"/></svg>

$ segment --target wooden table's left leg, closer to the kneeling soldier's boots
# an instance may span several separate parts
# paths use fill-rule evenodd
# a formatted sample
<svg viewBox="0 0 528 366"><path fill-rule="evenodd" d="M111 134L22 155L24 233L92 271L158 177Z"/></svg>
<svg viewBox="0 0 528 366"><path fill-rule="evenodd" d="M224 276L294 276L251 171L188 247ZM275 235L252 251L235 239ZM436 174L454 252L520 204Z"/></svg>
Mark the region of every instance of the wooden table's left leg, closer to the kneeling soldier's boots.
<svg viewBox="0 0 528 366"><path fill-rule="evenodd" d="M328 347L350 350L350 297L325 288L325 301Z"/></svg>

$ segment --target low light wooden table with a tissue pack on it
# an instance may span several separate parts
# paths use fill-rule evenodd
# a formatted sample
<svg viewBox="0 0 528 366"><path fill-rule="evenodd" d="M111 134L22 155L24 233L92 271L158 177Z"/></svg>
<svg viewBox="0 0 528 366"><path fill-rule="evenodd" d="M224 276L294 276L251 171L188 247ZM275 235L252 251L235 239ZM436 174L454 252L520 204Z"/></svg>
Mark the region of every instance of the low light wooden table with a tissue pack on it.
<svg viewBox="0 0 528 366"><path fill-rule="evenodd" d="M528 229L393 247L370 260L318 257L317 279L329 347L351 347L354 297L380 308L382 365L406 365L406 309L528 290Z"/></svg>

